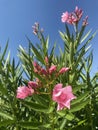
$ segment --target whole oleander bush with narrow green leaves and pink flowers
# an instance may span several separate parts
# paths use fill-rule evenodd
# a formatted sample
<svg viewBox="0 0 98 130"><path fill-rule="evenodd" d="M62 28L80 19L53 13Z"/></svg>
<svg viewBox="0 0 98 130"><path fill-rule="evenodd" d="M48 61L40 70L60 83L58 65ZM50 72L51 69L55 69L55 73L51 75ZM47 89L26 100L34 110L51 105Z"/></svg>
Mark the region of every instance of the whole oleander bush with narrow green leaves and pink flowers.
<svg viewBox="0 0 98 130"><path fill-rule="evenodd" d="M7 42L0 53L0 130L97 129L98 73L90 75L96 32L85 32L88 16L82 15L77 6L63 13L59 46L35 22L38 41L27 37L28 48L19 45L18 63L10 60Z"/></svg>

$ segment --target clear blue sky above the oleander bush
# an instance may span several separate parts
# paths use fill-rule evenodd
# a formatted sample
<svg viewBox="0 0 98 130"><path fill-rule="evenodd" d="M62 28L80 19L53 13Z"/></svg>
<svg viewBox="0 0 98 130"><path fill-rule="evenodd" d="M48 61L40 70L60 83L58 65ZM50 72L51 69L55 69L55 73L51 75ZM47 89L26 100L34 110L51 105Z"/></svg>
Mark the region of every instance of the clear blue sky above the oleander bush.
<svg viewBox="0 0 98 130"><path fill-rule="evenodd" d="M83 9L84 17L89 16L87 29L98 29L98 0L0 0L0 46L4 48L9 39L11 56L16 57L19 44L27 47L27 35L33 43L36 38L32 34L32 25L38 21L44 28L50 42L61 42L58 31L64 30L61 15L68 10L73 11L75 6ZM98 34L92 41L94 54L93 73L98 70ZM61 44L61 43L60 43ZM59 44L59 45L60 45Z"/></svg>

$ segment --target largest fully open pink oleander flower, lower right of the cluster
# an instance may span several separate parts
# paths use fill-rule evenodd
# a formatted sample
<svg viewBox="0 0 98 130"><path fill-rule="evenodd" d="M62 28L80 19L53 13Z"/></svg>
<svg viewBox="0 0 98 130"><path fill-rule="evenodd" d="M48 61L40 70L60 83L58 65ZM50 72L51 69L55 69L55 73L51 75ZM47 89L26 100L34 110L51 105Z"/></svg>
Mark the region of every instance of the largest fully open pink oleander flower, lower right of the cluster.
<svg viewBox="0 0 98 130"><path fill-rule="evenodd" d="M58 103L57 111L62 110L64 107L70 109L70 102L76 99L76 96L72 93L72 87L66 86L62 88L62 84L55 85L53 89L52 99Z"/></svg>

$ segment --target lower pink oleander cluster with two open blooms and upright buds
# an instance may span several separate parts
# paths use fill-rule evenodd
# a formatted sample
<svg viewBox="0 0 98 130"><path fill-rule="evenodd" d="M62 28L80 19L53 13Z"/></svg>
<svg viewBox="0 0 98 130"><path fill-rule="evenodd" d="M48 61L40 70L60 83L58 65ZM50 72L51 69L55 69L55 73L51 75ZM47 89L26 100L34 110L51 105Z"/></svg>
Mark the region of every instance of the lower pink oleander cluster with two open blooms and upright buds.
<svg viewBox="0 0 98 130"><path fill-rule="evenodd" d="M57 69L57 65L51 65L49 67L48 57L45 57L46 68L42 67L38 64L38 62L33 62L34 73L40 75L44 78L44 80L48 80L51 82L52 75L55 75L56 78L58 76L66 73L70 70L68 67L62 67L61 69ZM32 96L33 94L42 94L40 88L49 87L49 83L43 85L40 79L36 78L34 81L28 81L26 86L19 86L17 89L16 98L25 99L26 97ZM58 103L57 110L62 110L64 107L70 109L70 101L75 99L76 97L72 93L72 87L66 86L62 87L63 84L58 83L53 86L53 90L49 89L49 93L51 95L51 99Z"/></svg>

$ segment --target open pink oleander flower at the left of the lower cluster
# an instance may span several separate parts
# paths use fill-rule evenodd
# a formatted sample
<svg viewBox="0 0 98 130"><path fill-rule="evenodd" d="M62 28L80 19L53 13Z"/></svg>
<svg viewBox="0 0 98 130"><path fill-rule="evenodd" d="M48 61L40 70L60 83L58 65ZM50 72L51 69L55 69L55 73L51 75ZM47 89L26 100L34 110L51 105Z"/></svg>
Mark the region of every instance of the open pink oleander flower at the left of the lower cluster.
<svg viewBox="0 0 98 130"><path fill-rule="evenodd" d="M20 86L17 89L16 98L25 99L28 96L31 96L34 93L34 90L31 87Z"/></svg>

